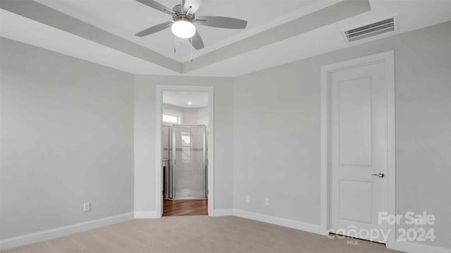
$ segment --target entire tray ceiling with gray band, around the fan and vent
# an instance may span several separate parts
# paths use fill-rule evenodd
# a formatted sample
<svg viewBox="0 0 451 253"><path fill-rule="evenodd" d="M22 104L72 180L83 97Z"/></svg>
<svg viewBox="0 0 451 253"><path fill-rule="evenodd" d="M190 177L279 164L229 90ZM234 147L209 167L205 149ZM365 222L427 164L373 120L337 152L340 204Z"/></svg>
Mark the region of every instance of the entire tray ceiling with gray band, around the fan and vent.
<svg viewBox="0 0 451 253"><path fill-rule="evenodd" d="M189 42L171 30L135 37L171 16L134 0L2 0L0 36L134 74L234 77L353 46L342 30L381 18L397 15L394 34L449 21L451 1L206 0L197 14L245 19L248 27L197 25L205 48L193 49L190 62Z"/></svg>

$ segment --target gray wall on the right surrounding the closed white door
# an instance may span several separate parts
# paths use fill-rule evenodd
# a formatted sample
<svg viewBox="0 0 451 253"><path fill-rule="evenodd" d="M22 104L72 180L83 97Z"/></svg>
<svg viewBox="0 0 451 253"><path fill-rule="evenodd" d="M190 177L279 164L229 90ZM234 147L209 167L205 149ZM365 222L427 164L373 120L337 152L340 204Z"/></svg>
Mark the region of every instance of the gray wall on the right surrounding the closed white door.
<svg viewBox="0 0 451 253"><path fill-rule="evenodd" d="M234 207L319 224L320 67L395 50L397 213L434 214L426 243L451 247L450 31L447 22L235 78Z"/></svg>

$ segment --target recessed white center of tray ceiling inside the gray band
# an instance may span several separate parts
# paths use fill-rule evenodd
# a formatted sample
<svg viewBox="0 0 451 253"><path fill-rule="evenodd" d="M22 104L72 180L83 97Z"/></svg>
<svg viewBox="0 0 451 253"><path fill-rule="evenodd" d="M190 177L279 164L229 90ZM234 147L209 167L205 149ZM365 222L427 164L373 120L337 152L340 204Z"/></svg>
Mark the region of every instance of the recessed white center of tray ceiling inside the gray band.
<svg viewBox="0 0 451 253"><path fill-rule="evenodd" d="M103 30L133 41L136 44L178 60L185 62L190 59L190 43L187 39L175 39L171 29L166 29L147 37L136 37L141 30L171 20L170 15L156 11L134 0L90 0L90 1L55 1L37 0L37 2L66 13L74 18L84 20ZM159 1L172 8L181 1ZM228 30L196 25L204 39L205 48L199 52L194 50L194 57L209 51L209 48L250 30L264 27L275 22L283 15L288 15L299 8L306 8L318 4L318 1L205 1L197 15L219 15L240 18L248 21L246 30ZM174 52L174 47L177 49Z"/></svg>

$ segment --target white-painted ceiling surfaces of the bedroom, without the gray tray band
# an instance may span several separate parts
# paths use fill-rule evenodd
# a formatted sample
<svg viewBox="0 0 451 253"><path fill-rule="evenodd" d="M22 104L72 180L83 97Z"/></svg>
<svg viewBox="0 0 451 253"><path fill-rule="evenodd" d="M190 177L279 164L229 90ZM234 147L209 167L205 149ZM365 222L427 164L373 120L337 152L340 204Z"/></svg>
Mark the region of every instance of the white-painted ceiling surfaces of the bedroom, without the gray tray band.
<svg viewBox="0 0 451 253"><path fill-rule="evenodd" d="M190 58L190 46L182 41L178 53L173 52L174 37L170 30L152 34L148 37L135 37L134 34L171 17L134 0L37 0L57 11L87 22L101 30L116 34L135 44L161 53L183 63ZM228 15L249 21L246 30L223 30L197 25L204 39L205 48L193 51L194 61L206 53L217 51L240 39L257 34L283 22L299 18L313 11L340 2L319 0L289 1L230 1L206 0L199 9L199 15ZM304 32L294 37L277 41L268 46L240 53L237 56L202 65L185 73L192 76L235 77L267 67L273 67L295 60L327 53L339 48L380 39L373 37L354 44L347 44L340 32L352 27L374 22L392 15L398 17L397 33L409 32L421 27L435 25L451 20L451 1L404 1L370 0L371 11L346 18L339 22ZM178 4L178 1L161 1L166 6ZM390 34L392 36L393 34ZM22 15L0 9L0 36L27 44L32 44L68 56L124 70L133 74L175 74L161 65L131 56L123 51L104 46L89 39L79 37L64 30L25 18Z"/></svg>

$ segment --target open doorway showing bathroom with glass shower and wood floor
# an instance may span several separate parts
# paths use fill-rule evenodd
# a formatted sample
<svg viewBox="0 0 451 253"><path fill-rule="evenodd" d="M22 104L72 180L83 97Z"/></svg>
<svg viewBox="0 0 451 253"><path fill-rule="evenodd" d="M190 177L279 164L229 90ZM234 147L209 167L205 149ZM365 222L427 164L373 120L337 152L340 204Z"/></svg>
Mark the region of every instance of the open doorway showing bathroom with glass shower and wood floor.
<svg viewBox="0 0 451 253"><path fill-rule="evenodd" d="M161 90L161 215L209 213L209 92Z"/></svg>

